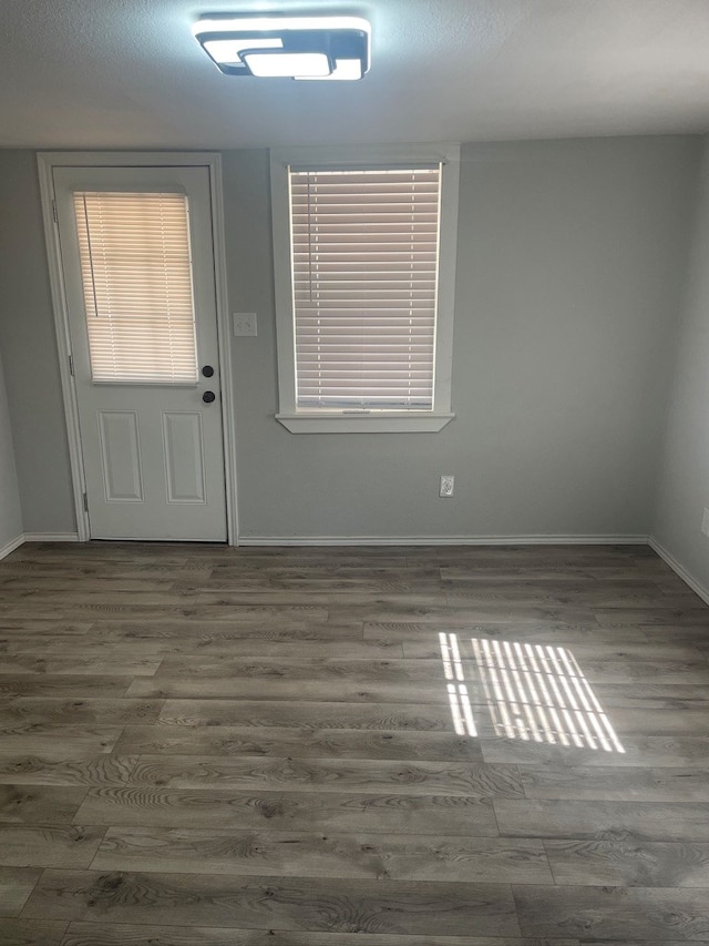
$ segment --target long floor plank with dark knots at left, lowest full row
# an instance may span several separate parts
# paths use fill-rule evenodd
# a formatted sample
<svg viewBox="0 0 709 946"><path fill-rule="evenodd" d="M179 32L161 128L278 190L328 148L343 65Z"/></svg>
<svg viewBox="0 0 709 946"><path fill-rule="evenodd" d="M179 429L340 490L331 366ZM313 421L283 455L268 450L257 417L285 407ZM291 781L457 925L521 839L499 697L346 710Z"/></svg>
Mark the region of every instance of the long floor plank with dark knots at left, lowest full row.
<svg viewBox="0 0 709 946"><path fill-rule="evenodd" d="M518 936L508 885L48 869L28 919L341 933Z"/></svg>

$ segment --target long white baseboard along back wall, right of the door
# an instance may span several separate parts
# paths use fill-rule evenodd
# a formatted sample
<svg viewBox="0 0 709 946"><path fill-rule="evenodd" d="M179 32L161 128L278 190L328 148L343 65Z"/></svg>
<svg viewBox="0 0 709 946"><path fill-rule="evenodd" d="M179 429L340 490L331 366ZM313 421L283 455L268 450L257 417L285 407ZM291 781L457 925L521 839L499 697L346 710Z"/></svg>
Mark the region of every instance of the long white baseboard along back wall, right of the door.
<svg viewBox="0 0 709 946"><path fill-rule="evenodd" d="M239 546L646 546L647 536L239 536Z"/></svg>

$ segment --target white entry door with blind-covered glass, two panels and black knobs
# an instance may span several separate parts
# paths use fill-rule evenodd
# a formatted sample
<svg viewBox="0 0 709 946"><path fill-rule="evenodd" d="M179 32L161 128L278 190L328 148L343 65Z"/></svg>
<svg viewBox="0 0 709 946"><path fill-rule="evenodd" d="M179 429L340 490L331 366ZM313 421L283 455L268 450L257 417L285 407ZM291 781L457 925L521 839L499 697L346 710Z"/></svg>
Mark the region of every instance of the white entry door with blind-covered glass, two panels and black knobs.
<svg viewBox="0 0 709 946"><path fill-rule="evenodd" d="M226 539L208 174L53 170L94 539Z"/></svg>

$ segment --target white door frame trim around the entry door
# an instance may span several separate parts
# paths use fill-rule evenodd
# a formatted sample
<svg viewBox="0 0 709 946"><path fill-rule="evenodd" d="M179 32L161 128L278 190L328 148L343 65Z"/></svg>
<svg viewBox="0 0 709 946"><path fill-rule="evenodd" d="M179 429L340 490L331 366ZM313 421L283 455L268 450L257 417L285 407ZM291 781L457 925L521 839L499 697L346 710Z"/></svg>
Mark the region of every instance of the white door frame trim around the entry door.
<svg viewBox="0 0 709 946"><path fill-rule="evenodd" d="M236 498L236 434L234 411L234 380L232 375L230 326L226 285L226 251L224 240L224 196L222 186L222 159L216 152L173 151L45 151L37 156L42 218L47 240L49 278L56 330L59 370L62 383L66 436L76 516L76 532L80 542L91 538L89 515L85 509L86 492L79 405L72 374L71 340L69 335L69 311L64 292L59 227L54 205L52 170L58 166L72 167L155 167L155 166L203 166L209 172L212 200L212 240L214 245L214 279L217 305L217 337L219 346L219 373L222 376L222 430L224 437L224 476L226 487L227 541L238 545L238 509Z"/></svg>

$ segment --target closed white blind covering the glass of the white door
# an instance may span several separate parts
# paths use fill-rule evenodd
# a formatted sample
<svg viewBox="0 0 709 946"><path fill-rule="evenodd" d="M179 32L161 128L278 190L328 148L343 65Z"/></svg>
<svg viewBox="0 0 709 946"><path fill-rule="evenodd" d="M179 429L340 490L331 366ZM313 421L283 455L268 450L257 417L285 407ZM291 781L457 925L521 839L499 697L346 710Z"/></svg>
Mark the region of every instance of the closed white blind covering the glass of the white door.
<svg viewBox="0 0 709 946"><path fill-rule="evenodd" d="M96 382L197 380L187 197L74 194Z"/></svg>

